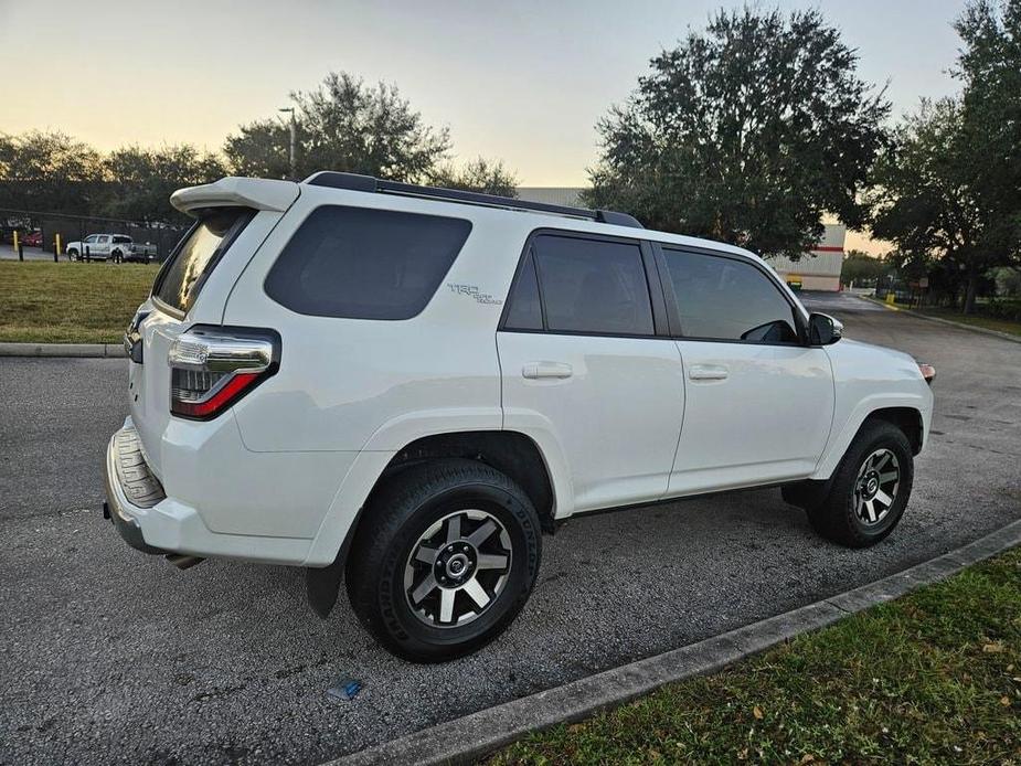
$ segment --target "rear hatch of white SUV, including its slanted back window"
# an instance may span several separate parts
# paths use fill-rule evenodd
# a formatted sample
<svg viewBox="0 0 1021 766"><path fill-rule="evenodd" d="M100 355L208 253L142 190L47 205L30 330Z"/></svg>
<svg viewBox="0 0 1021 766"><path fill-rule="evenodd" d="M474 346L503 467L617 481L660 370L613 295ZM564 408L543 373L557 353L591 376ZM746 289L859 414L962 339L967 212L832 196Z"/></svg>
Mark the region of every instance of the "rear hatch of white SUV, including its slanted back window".
<svg viewBox="0 0 1021 766"><path fill-rule="evenodd" d="M141 363L129 372L131 419L149 467L162 478L160 444L170 421L170 344L191 325L189 312L216 266L252 221L248 208L214 208L202 214L174 248L132 321Z"/></svg>

